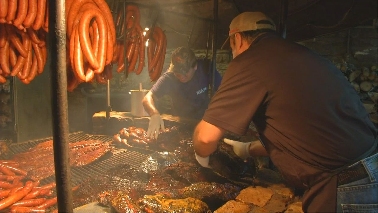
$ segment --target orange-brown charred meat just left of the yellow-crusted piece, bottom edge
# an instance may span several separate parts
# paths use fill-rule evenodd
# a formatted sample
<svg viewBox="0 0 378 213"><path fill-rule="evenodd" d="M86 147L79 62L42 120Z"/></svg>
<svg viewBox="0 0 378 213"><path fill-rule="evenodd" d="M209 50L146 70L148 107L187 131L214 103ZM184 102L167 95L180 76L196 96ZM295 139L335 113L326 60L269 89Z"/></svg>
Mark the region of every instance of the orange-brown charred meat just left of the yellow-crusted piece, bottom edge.
<svg viewBox="0 0 378 213"><path fill-rule="evenodd" d="M99 194L99 202L114 208L116 212L141 212L139 206L134 202L133 193L128 191L105 191Z"/></svg>

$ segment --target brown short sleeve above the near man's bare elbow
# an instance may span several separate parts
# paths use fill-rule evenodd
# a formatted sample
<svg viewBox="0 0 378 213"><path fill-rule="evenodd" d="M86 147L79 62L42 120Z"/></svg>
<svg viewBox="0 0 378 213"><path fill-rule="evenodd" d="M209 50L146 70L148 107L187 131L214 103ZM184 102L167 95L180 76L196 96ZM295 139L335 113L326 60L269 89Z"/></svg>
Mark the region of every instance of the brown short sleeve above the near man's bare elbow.
<svg viewBox="0 0 378 213"><path fill-rule="evenodd" d="M268 95L266 86L251 67L235 60L229 64L203 116L204 121L235 134L246 133L252 117Z"/></svg>

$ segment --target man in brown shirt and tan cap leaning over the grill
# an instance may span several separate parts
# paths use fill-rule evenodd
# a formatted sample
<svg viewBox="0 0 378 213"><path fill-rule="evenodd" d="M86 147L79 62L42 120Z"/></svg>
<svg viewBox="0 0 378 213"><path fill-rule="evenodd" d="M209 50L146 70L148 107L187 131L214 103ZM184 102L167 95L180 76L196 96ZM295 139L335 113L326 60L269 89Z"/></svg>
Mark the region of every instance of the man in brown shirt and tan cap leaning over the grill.
<svg viewBox="0 0 378 213"><path fill-rule="evenodd" d="M253 121L261 142L225 142L243 159L269 155L288 184L307 189L304 211L333 212L336 194L339 204L336 190L351 179L349 173L343 173L346 182L338 180L339 175L325 177L370 153L375 155L364 160L363 169L376 167L377 131L335 65L274 30L273 20L261 12L244 12L232 20L229 39L234 59L195 129L196 159L207 167L224 132L243 135ZM354 178L368 178L375 194L363 191L367 200L356 204L371 204L372 209L365 211L376 211L376 169L358 169ZM344 208L340 202L338 211Z"/></svg>

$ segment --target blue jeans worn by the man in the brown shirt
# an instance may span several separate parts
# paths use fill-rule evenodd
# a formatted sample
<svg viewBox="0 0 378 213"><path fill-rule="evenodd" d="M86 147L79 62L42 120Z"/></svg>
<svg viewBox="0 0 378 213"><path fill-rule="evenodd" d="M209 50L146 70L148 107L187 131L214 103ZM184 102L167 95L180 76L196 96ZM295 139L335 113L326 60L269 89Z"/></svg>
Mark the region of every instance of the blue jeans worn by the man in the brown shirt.
<svg viewBox="0 0 378 213"><path fill-rule="evenodd" d="M353 164L364 165L369 177L337 188L337 212L377 212L377 154Z"/></svg>

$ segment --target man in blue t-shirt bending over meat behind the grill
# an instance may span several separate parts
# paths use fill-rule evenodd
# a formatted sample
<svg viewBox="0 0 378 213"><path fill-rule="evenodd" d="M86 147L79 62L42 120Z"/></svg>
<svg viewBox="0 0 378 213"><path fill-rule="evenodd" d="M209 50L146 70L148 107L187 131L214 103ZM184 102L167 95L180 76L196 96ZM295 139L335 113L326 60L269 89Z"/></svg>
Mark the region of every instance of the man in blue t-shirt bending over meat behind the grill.
<svg viewBox="0 0 378 213"><path fill-rule="evenodd" d="M174 50L167 72L143 98L144 109L151 116L147 136L152 138L160 128L164 131L163 119L154 104L157 98L164 95L172 98L172 115L201 119L210 102L210 76L208 64L204 60L197 60L191 49L179 47ZM215 91L221 81L222 77L216 71Z"/></svg>

